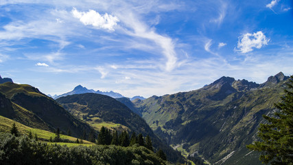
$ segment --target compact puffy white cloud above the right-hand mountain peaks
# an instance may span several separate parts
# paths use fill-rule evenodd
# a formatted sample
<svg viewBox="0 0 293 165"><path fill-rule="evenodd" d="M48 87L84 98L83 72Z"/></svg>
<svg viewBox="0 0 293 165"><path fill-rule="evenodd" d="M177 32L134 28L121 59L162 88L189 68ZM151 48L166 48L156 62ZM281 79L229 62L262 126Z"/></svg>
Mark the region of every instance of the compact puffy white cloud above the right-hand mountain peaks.
<svg viewBox="0 0 293 165"><path fill-rule="evenodd" d="M270 39L267 39L263 32L246 33L239 36L236 52L247 53L253 51L253 48L260 49L264 45L268 45Z"/></svg>

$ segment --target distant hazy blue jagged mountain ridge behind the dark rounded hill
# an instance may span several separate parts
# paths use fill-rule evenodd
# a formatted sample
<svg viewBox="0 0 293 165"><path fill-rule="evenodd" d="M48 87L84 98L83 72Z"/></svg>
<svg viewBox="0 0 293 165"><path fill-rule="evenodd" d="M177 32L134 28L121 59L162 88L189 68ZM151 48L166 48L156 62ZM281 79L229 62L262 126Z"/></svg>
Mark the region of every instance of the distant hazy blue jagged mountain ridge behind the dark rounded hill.
<svg viewBox="0 0 293 165"><path fill-rule="evenodd" d="M69 96L69 95L73 95L73 94L86 94L86 93L93 93L93 94L102 94L102 95L106 95L106 96L110 96L112 98L123 98L124 96L122 96L121 94L115 93L114 91L94 91L93 89L87 89L86 87L82 87L82 85L78 85L77 87L75 87L73 89L73 91L69 91L66 94L62 94L59 96L53 96L52 98L57 99L57 98L61 98L64 96Z"/></svg>

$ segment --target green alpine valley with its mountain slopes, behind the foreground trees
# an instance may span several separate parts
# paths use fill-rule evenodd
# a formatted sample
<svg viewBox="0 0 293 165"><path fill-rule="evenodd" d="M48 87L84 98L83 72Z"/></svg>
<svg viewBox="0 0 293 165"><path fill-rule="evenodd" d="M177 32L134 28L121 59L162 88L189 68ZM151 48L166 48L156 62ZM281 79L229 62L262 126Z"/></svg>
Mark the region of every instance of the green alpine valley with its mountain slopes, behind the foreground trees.
<svg viewBox="0 0 293 165"><path fill-rule="evenodd" d="M169 161L146 148L130 148L128 155L141 164L184 164L192 156L205 164L257 165L261 164L259 153L246 145L258 140L262 115L277 111L274 103L284 96L289 78L280 72L257 84L223 76L201 89L146 99L78 85L54 100L35 87L0 77L0 131L8 132L9 124L16 122L27 135L34 129L44 135L60 130L71 140L81 138L95 145L86 141L87 135L97 137L105 127L110 132L149 135L154 151L162 149Z"/></svg>

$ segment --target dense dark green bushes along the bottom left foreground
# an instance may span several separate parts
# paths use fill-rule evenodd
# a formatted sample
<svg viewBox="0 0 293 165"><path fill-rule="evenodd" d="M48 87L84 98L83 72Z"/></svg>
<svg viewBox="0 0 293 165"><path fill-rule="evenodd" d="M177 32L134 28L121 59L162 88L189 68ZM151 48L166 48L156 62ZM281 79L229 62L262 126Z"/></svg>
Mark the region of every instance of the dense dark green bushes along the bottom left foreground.
<svg viewBox="0 0 293 165"><path fill-rule="evenodd" d="M143 146L60 146L0 133L0 164L168 164Z"/></svg>

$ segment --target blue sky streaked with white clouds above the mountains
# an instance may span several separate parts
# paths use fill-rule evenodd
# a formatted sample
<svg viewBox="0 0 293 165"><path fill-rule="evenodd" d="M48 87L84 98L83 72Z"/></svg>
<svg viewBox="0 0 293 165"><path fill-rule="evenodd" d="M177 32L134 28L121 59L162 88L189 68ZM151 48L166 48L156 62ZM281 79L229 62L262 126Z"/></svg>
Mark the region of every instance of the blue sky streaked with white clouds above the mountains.
<svg viewBox="0 0 293 165"><path fill-rule="evenodd" d="M1 0L0 75L126 97L293 71L292 0Z"/></svg>

